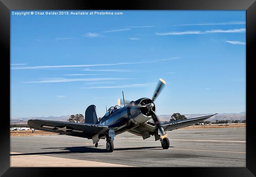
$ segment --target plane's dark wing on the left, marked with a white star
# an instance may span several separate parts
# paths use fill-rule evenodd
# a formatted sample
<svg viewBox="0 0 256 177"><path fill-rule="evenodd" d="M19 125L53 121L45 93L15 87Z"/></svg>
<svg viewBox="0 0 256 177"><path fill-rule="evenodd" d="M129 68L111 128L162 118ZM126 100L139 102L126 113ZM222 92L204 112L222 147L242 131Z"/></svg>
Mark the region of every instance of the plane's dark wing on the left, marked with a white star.
<svg viewBox="0 0 256 177"><path fill-rule="evenodd" d="M91 138L96 134L105 134L109 130L108 126L88 123L61 122L52 120L28 120L28 125L37 130L51 131L65 135Z"/></svg>

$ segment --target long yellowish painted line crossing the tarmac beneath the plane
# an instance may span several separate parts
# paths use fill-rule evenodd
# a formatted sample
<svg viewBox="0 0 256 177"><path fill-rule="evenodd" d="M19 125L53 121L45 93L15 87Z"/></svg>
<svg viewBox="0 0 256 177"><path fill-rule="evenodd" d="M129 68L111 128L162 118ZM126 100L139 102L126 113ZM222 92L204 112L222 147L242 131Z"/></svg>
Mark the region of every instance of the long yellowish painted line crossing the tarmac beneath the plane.
<svg viewBox="0 0 256 177"><path fill-rule="evenodd" d="M25 141L25 140L13 140L13 141ZM28 142L28 141L26 141ZM53 142L53 141L29 141L29 142ZM73 142L54 142L54 143L60 143L60 144L82 144L82 143L73 143ZM93 145L89 144L89 142L85 143L87 145ZM82 145L85 145L82 144ZM115 146L121 146L121 145L115 145ZM132 148L143 148L141 146L121 146L121 147L132 147ZM214 151L214 150L192 150L192 149L179 149L179 148L170 148L171 150L188 150L188 151L210 151L210 152L230 152L230 153L246 153L246 152L237 152L237 151Z"/></svg>

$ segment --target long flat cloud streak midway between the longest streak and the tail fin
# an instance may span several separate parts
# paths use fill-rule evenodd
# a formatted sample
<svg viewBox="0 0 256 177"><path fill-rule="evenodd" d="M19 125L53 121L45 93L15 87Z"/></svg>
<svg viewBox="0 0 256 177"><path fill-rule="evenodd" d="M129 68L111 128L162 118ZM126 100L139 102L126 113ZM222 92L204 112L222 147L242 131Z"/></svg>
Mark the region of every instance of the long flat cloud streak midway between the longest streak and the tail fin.
<svg viewBox="0 0 256 177"><path fill-rule="evenodd" d="M29 81L24 83L54 83L54 82L78 82L78 81L101 81L101 80L126 80L134 78L60 78L39 81Z"/></svg>

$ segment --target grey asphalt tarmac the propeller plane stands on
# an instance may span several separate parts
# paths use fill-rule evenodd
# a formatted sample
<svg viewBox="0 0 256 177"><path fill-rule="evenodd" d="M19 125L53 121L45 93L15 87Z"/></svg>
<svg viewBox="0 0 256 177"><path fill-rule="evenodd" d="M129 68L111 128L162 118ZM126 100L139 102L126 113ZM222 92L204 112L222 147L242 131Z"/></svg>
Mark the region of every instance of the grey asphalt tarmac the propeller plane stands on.
<svg viewBox="0 0 256 177"><path fill-rule="evenodd" d="M170 141L168 150L163 150L160 141L154 141L154 137L143 140L142 137L126 132L122 133L122 136L115 137L113 153L106 152L105 140L100 140L98 148L95 148L92 140L67 135L10 137L10 151L14 152L10 155L11 166L22 166L22 161L26 161L28 156L40 156L41 162L44 159L47 161L46 157L49 156L58 157L56 161L63 163L65 160L69 162L76 159L84 166L86 164L83 161L91 162L89 163L91 166L93 164L139 167L246 166L245 128L178 129L166 133ZM19 162L15 157L19 157ZM75 163L73 165L75 166ZM37 164L30 161L27 166L37 166ZM47 166L47 163L44 166Z"/></svg>

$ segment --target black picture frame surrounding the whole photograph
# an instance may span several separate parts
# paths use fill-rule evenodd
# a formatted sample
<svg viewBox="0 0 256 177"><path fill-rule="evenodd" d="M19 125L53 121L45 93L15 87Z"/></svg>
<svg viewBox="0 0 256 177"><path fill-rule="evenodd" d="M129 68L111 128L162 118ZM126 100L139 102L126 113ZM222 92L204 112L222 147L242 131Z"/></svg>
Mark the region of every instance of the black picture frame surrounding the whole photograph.
<svg viewBox="0 0 256 177"><path fill-rule="evenodd" d="M246 167L245 168L12 168L10 167L10 10L32 9L95 9L95 10L246 10ZM254 176L256 175L256 132L253 103L256 96L253 75L255 60L256 2L255 0L1 0L0 35L2 48L0 86L2 98L2 128L0 128L0 175L2 176L61 176L70 175L196 175L196 176ZM9 73L9 74L8 74ZM9 110L7 109L9 107ZM149 154L150 155L150 154ZM153 166L153 164L152 164ZM136 172L137 171L137 172ZM139 173L138 173L139 172Z"/></svg>

